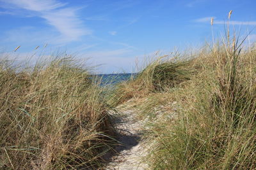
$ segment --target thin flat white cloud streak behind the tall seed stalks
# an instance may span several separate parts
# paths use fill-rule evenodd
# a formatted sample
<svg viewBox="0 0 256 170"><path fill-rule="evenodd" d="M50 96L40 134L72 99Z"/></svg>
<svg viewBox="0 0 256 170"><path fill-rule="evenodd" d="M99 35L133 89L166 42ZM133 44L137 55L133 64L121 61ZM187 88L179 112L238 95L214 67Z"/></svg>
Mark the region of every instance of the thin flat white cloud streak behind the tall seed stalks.
<svg viewBox="0 0 256 170"><path fill-rule="evenodd" d="M193 20L193 22L201 22L201 23L211 23L211 18L214 18L213 24L225 24L224 20L216 20L216 17L204 17ZM227 21L226 21L227 22ZM256 25L256 21L238 21L238 20L230 20L229 24L231 25Z"/></svg>

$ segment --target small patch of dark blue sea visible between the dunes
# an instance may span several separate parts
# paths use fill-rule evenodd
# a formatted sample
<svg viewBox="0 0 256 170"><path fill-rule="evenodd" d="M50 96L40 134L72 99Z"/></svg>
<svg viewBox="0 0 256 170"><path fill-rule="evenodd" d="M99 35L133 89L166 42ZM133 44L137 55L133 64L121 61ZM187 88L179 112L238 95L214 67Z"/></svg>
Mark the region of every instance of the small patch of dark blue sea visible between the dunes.
<svg viewBox="0 0 256 170"><path fill-rule="evenodd" d="M136 73L119 73L119 74L97 74L100 78L100 85L115 85L116 83L120 83L122 81L129 80L136 76Z"/></svg>

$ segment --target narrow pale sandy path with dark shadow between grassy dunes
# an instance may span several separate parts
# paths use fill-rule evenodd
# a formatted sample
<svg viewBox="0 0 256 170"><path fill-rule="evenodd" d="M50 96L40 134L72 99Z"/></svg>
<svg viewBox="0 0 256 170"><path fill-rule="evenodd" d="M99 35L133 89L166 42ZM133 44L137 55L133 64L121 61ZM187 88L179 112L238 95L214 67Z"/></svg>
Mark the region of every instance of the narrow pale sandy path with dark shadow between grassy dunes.
<svg viewBox="0 0 256 170"><path fill-rule="evenodd" d="M106 169L147 169L147 166L141 162L141 158L147 153L141 134L143 122L136 120L134 111L130 108L116 108L118 114L111 112L113 124L117 132L117 141L119 145L115 146L115 156Z"/></svg>

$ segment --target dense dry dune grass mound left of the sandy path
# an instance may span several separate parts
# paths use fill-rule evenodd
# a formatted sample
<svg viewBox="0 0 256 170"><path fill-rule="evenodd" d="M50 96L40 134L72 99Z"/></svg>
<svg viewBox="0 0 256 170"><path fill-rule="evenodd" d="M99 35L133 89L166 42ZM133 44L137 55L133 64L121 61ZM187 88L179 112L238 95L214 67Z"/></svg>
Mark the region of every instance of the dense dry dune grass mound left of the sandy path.
<svg viewBox="0 0 256 170"><path fill-rule="evenodd" d="M65 53L33 67L1 59L0 169L101 166L113 129L94 82Z"/></svg>

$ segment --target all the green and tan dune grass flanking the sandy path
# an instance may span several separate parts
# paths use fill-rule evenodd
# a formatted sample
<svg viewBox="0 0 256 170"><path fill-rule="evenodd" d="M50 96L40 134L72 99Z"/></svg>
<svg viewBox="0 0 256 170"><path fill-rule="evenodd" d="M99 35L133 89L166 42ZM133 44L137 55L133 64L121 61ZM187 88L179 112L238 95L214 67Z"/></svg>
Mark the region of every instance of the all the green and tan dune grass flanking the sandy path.
<svg viewBox="0 0 256 170"><path fill-rule="evenodd" d="M65 53L35 66L1 57L0 169L104 168L116 144L109 110L127 101L145 122L149 169L256 169L256 46L226 31L156 53L109 89Z"/></svg>

